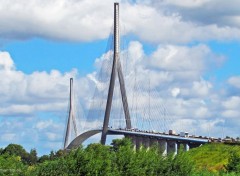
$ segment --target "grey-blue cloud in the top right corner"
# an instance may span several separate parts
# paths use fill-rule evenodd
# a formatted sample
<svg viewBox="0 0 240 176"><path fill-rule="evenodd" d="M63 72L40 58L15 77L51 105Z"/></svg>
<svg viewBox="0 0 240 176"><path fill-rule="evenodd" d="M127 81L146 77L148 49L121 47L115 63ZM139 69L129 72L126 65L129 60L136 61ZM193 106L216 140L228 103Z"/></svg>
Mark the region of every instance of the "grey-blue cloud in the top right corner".
<svg viewBox="0 0 240 176"><path fill-rule="evenodd" d="M203 1L151 1L165 13L178 13L183 21L192 21L200 25L216 24L219 27L239 28L239 1L203 0Z"/></svg>

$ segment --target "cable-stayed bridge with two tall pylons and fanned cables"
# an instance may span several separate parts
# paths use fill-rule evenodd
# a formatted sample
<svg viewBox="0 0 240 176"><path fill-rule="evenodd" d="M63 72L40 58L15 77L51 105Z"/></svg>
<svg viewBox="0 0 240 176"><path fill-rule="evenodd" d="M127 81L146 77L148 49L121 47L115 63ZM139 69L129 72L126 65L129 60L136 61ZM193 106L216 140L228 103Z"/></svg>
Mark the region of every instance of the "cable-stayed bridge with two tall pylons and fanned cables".
<svg viewBox="0 0 240 176"><path fill-rule="evenodd" d="M70 80L70 104L64 148L78 147L98 133L101 134L100 141L103 145L108 135L124 135L132 139L136 148L157 143L165 153L177 152L180 145L188 150L208 143L207 138L189 136L188 133L167 133L168 123L171 123L168 109L159 101L158 92L151 88L150 78L144 85L139 84L138 70L128 65L128 60L124 60L127 53L120 52L120 48L119 4L114 3L113 33L109 37L106 54L100 60L98 77L91 78L96 88L93 99L89 101L85 122L81 120L86 128L81 129L80 134L73 100L73 79ZM126 76L123 70L132 76ZM147 72L145 74L146 77L150 76ZM155 129L163 132L156 132Z"/></svg>

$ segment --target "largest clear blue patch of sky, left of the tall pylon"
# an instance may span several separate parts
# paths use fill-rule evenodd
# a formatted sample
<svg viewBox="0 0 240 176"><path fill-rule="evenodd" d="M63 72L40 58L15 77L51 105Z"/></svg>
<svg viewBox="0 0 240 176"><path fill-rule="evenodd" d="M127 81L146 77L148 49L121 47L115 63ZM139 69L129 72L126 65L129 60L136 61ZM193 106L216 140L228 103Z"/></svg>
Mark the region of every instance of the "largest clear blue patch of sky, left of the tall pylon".
<svg viewBox="0 0 240 176"><path fill-rule="evenodd" d="M12 53L16 67L25 73L52 69L66 72L77 68L86 74L93 71L95 59L105 48L106 40L83 43L38 38L8 43L3 50Z"/></svg>

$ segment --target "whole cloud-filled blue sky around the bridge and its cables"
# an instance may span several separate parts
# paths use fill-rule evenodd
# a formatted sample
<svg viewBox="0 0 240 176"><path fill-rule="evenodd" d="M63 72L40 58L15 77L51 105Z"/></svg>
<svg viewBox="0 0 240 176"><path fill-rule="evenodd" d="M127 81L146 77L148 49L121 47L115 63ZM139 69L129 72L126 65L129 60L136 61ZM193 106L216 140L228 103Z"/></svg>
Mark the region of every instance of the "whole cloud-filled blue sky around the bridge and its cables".
<svg viewBox="0 0 240 176"><path fill-rule="evenodd" d="M39 155L62 147L69 78L88 111L101 83L95 71L107 62L113 2L0 1L0 147L19 143ZM158 92L151 100L168 108L169 128L240 136L239 5L237 0L121 1L129 97L136 93L130 89L136 70L138 84L146 88L151 79Z"/></svg>

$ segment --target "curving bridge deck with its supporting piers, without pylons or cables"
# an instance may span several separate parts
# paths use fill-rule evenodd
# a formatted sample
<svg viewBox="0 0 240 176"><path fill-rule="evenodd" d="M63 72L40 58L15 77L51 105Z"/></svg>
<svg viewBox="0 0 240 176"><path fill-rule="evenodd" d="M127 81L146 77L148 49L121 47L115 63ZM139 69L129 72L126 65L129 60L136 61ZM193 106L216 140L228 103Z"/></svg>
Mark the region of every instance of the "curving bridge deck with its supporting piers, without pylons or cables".
<svg viewBox="0 0 240 176"><path fill-rule="evenodd" d="M102 129L93 129L86 131L79 136L77 136L66 148L70 150L81 145L86 139L91 136L101 133ZM169 135L163 133L147 132L140 131L136 129L113 129L108 128L108 135L124 135L132 140L133 145L136 149L139 149L141 146L148 148L153 144L157 144L164 154L167 153L177 153L180 145L184 146L186 151L189 148L199 147L202 144L208 143L209 140L206 138L197 138L197 137L181 137L179 135Z"/></svg>

